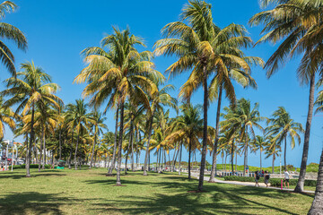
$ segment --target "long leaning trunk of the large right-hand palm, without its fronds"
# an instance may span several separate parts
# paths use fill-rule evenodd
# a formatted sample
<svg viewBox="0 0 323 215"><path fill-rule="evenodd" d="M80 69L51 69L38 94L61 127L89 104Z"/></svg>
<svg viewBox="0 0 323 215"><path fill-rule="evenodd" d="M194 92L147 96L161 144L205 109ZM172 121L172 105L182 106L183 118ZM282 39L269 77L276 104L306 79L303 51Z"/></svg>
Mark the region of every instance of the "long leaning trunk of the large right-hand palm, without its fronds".
<svg viewBox="0 0 323 215"><path fill-rule="evenodd" d="M301 171L298 183L295 187L295 192L302 192L304 190L305 174L306 174L306 164L309 156L309 144L310 144L310 125L313 117L313 107L314 107L314 91L315 91L315 73L310 77L310 99L309 99L309 112L306 120L306 129L304 134L304 146L303 153L301 157Z"/></svg>

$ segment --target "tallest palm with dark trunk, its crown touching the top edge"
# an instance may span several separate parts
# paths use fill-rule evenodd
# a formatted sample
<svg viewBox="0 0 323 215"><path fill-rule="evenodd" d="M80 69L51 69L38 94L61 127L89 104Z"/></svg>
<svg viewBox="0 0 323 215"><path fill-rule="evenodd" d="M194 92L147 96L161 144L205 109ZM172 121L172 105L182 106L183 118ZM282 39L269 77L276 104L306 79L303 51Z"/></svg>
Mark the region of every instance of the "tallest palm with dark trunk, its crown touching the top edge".
<svg viewBox="0 0 323 215"><path fill-rule="evenodd" d="M180 18L180 22L171 22L162 29L166 39L156 42L155 53L156 55L179 57L179 60L171 64L167 70L172 75L192 69L188 82L183 85L179 93L184 99L189 99L193 91L200 86L203 87L204 135L198 183L198 190L201 191L204 182L207 145L207 102L209 98L207 79L214 72L215 76L218 73L227 73L226 60L231 59L236 64L240 64L240 67L244 70L249 70L249 64L238 56L220 53L217 50L218 41L215 37L220 29L214 25L211 4L206 4L205 1L199 0L188 1ZM229 88L231 86L225 87ZM229 96L232 96L232 94Z"/></svg>

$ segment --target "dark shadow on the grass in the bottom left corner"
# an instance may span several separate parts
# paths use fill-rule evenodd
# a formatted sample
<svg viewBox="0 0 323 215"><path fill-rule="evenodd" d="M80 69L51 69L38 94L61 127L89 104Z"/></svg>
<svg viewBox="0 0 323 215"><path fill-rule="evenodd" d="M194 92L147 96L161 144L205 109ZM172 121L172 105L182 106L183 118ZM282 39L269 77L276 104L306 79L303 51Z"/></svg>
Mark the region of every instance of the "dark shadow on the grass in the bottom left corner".
<svg viewBox="0 0 323 215"><path fill-rule="evenodd" d="M54 193L10 193L0 195L0 214L63 214L59 206L69 201Z"/></svg>

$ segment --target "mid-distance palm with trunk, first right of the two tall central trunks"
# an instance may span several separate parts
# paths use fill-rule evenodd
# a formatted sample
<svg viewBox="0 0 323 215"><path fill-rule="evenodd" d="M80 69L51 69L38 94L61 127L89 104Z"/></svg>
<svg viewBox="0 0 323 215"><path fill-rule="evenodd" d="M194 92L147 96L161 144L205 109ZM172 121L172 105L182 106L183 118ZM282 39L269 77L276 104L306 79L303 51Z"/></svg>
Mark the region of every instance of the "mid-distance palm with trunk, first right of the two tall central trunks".
<svg viewBox="0 0 323 215"><path fill-rule="evenodd" d="M224 121L220 123L223 131L233 128L233 130L240 133L240 142L244 142L244 176L248 165L249 134L255 140L254 128L257 127L260 131L264 131L258 123L264 120L265 117L260 116L258 107L258 103L251 107L249 100L240 99L237 101L237 107L224 107L226 114L223 115Z"/></svg>

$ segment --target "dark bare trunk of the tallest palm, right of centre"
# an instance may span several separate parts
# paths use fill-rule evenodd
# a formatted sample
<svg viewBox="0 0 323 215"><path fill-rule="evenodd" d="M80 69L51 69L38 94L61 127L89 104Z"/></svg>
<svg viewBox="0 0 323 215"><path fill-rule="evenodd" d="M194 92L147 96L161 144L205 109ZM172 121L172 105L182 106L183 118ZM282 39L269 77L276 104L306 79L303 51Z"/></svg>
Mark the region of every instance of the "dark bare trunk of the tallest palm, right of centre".
<svg viewBox="0 0 323 215"><path fill-rule="evenodd" d="M205 171L205 159L206 159L206 141L207 141L207 75L206 75L206 65L203 66L203 87L204 87L204 102L203 102L203 112L204 112L204 126L203 126L203 148L202 148L202 158L201 158L201 168L200 175L198 178L197 190L202 191L204 183L204 171Z"/></svg>

